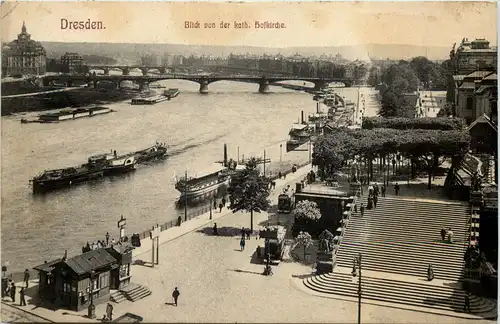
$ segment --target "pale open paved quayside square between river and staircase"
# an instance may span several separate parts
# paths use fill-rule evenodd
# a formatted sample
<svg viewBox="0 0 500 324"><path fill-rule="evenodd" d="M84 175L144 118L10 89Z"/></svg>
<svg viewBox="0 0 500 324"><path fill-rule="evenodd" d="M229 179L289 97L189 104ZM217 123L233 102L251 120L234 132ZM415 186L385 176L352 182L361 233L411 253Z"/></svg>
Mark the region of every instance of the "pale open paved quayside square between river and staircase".
<svg viewBox="0 0 500 324"><path fill-rule="evenodd" d="M311 169L306 166L289 174L286 180L276 180L271 201L276 203L281 189L303 179ZM254 213L254 230L268 220L268 213ZM290 216L291 217L291 216ZM217 222L219 236L211 235ZM227 208L183 223L160 234L159 265L151 261L151 241L142 240L141 248L134 251L132 282L151 289L152 294L136 302L114 304L114 318L132 313L144 322L212 322L212 323L284 323L328 322L355 323L357 302L346 299L314 296L301 288L302 279L312 272L311 266L298 262L274 266L274 275L261 275L264 265L253 263L255 248L263 240L252 237L246 241L243 252L239 249L242 226L250 227L249 213L232 213ZM207 234L208 233L208 234ZM144 265L142 264L145 262ZM172 306L172 290L180 291L178 307ZM17 299L18 300L18 299ZM27 300L23 309L54 322L97 322L80 313L67 310L48 310L36 307ZM9 303L11 304L11 303ZM105 313L105 304L96 306L97 318ZM2 318L3 320L3 318ZM470 323L470 319L441 316L379 306L363 302L363 323ZM494 321L474 321L494 323Z"/></svg>

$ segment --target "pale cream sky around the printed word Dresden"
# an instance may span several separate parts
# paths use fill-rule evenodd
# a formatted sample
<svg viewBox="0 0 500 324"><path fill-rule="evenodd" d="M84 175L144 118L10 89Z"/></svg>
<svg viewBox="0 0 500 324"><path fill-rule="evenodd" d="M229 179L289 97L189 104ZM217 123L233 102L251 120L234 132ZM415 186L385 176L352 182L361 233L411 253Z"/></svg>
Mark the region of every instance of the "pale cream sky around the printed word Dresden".
<svg viewBox="0 0 500 324"><path fill-rule="evenodd" d="M342 46L366 43L451 46L463 37L497 43L492 2L2 2L1 40L17 37L22 22L38 41ZM102 30L61 29L61 19L100 21ZM185 28L185 22L215 29ZM220 28L220 22L230 28ZM235 21L252 28L236 29ZM255 21L283 29L255 29Z"/></svg>

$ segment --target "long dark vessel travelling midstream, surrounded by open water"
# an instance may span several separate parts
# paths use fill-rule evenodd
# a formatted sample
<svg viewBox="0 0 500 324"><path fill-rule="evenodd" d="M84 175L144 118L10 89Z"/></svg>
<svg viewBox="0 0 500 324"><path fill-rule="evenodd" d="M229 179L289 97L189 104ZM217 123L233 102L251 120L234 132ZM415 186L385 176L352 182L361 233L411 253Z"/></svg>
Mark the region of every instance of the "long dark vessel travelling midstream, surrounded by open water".
<svg viewBox="0 0 500 324"><path fill-rule="evenodd" d="M44 171L30 180L30 184L35 194L47 192L105 176L132 172L136 164L164 158L166 155L167 147L163 143L156 143L147 149L123 155L118 155L116 151L96 154L80 166Z"/></svg>

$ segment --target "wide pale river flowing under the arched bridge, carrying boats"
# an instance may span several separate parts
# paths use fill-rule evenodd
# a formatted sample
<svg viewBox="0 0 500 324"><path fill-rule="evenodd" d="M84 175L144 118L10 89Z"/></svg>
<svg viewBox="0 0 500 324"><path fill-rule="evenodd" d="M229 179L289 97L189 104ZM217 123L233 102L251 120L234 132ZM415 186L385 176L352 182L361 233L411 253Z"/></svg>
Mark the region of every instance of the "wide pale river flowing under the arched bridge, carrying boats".
<svg viewBox="0 0 500 324"><path fill-rule="evenodd" d="M257 84L220 81L207 95L189 81L162 82L181 93L152 106L128 102L108 105L116 112L58 124L21 124L24 116L2 117L2 262L22 271L62 257L73 256L87 241L118 236L120 215L126 233L142 232L156 223L177 218L179 192L174 177L195 174L221 160L223 145L229 157L262 156L276 167L282 161L304 162L308 152L286 153L290 124L300 111L316 109L312 95L271 87L260 94ZM356 102L355 88L338 89ZM139 166L136 172L87 183L67 190L33 196L28 181L46 169L84 163L88 156L116 149L125 153L156 141L170 147L167 160Z"/></svg>

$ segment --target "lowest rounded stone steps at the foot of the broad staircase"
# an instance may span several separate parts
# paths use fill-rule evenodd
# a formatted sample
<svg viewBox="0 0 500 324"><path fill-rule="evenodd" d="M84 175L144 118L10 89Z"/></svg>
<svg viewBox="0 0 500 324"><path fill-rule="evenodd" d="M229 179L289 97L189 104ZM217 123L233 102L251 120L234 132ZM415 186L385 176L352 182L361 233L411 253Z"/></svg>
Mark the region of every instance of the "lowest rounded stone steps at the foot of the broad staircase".
<svg viewBox="0 0 500 324"><path fill-rule="evenodd" d="M303 283L309 289L320 293L357 297L358 284L352 282L350 274L330 273L319 275L307 278L303 280ZM458 288L363 276L362 298L461 312L465 292ZM473 295L470 297L470 306L472 314L496 313L494 303Z"/></svg>

